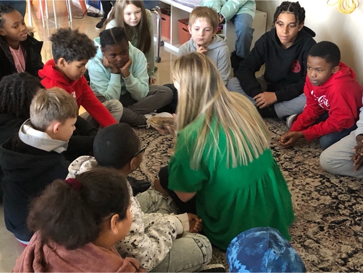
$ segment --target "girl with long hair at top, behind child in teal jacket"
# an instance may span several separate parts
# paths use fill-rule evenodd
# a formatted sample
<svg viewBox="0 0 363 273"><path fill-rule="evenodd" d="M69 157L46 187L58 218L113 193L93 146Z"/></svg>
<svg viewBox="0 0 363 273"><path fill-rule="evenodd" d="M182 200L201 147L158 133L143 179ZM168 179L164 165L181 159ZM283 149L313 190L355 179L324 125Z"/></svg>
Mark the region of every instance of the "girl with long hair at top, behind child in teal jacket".
<svg viewBox="0 0 363 273"><path fill-rule="evenodd" d="M123 27L130 43L144 53L148 62L149 84L155 83L154 76L154 28L150 10L143 1L117 0L102 30Z"/></svg>

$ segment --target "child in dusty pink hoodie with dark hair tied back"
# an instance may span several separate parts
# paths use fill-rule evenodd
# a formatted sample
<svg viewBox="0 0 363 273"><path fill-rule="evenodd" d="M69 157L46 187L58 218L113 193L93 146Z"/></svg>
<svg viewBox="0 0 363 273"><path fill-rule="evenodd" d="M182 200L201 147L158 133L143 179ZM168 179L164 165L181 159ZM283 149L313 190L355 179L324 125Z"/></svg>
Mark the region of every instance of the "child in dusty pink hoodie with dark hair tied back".
<svg viewBox="0 0 363 273"><path fill-rule="evenodd" d="M126 183L102 168L54 181L32 203L35 234L13 272L145 272L114 247L132 223Z"/></svg>

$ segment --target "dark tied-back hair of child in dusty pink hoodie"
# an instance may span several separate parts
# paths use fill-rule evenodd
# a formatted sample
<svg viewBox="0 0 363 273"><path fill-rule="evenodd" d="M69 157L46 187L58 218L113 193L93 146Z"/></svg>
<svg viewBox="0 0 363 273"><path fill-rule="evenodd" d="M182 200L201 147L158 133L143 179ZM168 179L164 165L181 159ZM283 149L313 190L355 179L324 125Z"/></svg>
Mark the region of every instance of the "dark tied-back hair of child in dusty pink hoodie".
<svg viewBox="0 0 363 273"><path fill-rule="evenodd" d="M68 250L96 240L104 221L119 214L127 217L130 194L121 174L106 168L76 176L79 191L63 180L55 180L34 199L28 216L31 231L39 231L42 241L55 241Z"/></svg>

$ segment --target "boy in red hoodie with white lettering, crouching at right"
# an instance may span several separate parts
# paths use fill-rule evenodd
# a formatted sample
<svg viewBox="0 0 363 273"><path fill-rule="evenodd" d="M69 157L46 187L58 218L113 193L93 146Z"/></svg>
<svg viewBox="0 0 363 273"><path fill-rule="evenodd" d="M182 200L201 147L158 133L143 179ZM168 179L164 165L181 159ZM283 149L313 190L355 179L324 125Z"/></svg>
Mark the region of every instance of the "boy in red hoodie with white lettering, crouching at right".
<svg viewBox="0 0 363 273"><path fill-rule="evenodd" d="M324 150L347 136L357 126L362 107L362 86L354 71L340 62L340 50L332 42L313 46L308 54L303 112L287 118L290 130L279 143L292 147L302 137L320 138Z"/></svg>

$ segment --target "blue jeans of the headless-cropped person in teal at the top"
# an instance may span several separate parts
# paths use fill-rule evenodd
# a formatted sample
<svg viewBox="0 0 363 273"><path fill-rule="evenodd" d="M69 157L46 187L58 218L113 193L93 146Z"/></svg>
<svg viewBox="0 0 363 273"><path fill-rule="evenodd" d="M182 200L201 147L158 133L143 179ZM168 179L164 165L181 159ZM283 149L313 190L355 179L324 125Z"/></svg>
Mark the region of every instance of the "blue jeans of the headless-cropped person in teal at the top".
<svg viewBox="0 0 363 273"><path fill-rule="evenodd" d="M230 21L236 28L236 54L241 58L250 52L253 39L252 16L247 13L241 13L233 16Z"/></svg>

